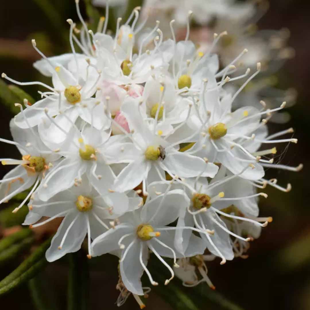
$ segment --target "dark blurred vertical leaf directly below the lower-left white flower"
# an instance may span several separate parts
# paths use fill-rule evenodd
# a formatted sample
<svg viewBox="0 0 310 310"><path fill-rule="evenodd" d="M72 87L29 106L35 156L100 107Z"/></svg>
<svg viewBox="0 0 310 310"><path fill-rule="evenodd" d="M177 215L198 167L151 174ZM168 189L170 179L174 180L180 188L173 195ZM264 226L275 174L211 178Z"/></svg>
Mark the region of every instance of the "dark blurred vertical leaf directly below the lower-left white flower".
<svg viewBox="0 0 310 310"><path fill-rule="evenodd" d="M88 259L83 250L70 254L68 310L87 310L89 299Z"/></svg>

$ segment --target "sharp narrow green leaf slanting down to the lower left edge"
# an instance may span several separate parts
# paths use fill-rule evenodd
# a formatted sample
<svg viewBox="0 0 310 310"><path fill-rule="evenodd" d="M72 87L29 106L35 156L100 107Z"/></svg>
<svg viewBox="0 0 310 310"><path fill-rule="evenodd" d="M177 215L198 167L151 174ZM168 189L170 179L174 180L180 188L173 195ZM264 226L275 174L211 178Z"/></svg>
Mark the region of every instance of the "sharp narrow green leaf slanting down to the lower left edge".
<svg viewBox="0 0 310 310"><path fill-rule="evenodd" d="M0 296L30 280L46 266L45 251L50 246L51 239L52 237L43 242L33 254L0 282Z"/></svg>

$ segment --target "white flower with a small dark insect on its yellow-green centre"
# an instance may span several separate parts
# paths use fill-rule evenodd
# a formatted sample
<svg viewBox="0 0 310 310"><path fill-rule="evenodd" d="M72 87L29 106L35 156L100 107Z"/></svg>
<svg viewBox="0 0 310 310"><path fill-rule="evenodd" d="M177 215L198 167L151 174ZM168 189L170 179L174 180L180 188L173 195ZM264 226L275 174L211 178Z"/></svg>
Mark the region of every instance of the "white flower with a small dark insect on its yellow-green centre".
<svg viewBox="0 0 310 310"><path fill-rule="evenodd" d="M135 149L132 153L124 153L124 158L127 155L129 165L117 176L115 181L117 191L132 189L143 182L145 194L147 184L163 179L164 171L185 178L197 176L202 170L204 170L202 176L213 177L216 174L218 170L216 165L206 164L199 157L178 152L174 148L178 143L169 144L154 131L151 132L143 122L138 100L128 98L122 105L122 113L133 131L131 139Z"/></svg>

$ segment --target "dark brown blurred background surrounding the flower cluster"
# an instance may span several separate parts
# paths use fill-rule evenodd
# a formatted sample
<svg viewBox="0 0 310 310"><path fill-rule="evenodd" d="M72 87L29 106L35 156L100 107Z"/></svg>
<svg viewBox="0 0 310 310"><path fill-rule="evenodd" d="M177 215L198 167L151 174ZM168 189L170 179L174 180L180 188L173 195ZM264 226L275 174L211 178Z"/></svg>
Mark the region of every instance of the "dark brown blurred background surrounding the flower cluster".
<svg viewBox="0 0 310 310"><path fill-rule="evenodd" d="M43 8L46 1L1 0L0 11L0 71L19 81L41 80L33 69L33 61L40 57L31 45L35 38L37 46L46 55L56 55L69 51L68 32L65 20L77 20L73 0L47 1L50 9ZM47 11L44 11L47 10ZM55 10L55 11L54 11ZM268 176L276 177L278 183L292 184L290 193L282 193L268 187L269 198L261 201L262 216L272 216L273 222L264 228L261 237L251 243L248 259L234 259L223 266L219 261L208 263L209 276L221 293L246 310L308 310L310 309L310 182L309 175L309 134L310 134L310 2L303 0L272 0L270 9L258 23L260 29L290 29L289 45L294 47L296 56L289 60L277 74L279 87L294 87L298 91L297 104L289 108L291 121L285 125L270 125L270 131L295 129L294 137L298 144L291 144L278 150L285 152L281 163L291 166L304 164L299 173L268 171ZM228 29L229 30L229 29ZM247 47L249 48L249 47ZM24 88L38 99L36 87ZM12 102L13 104L13 102ZM11 139L9 121L12 113L0 106L1 137ZM18 158L14 147L1 144L1 157ZM278 155L277 154L277 155ZM1 176L9 168L1 167ZM1 206L2 207L2 206ZM117 259L112 256L90 264L91 309L116 309L118 291ZM16 265L0 268L3 278ZM112 271L111 271L112 270ZM55 290L58 309L66 308L67 261L48 265L42 273L42 286ZM176 281L177 283L177 281ZM202 288L201 288L202 290ZM186 289L191 294L191 289ZM197 295L199 298L199 294ZM201 297L202 298L202 297ZM30 309L33 302L27 286L2 297L1 308ZM172 309L161 294L155 290L147 300L148 309ZM137 309L134 299L122 309ZM43 309L43 308L42 308ZM201 309L218 309L206 301Z"/></svg>

